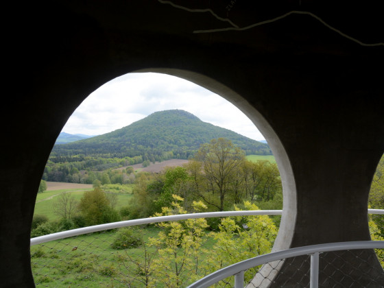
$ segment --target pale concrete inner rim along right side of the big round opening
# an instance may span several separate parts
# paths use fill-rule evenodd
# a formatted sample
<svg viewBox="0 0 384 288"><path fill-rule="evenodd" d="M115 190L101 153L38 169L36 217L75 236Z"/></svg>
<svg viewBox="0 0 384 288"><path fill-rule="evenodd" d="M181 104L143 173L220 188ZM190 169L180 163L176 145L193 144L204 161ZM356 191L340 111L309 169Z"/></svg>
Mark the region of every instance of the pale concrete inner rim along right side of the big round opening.
<svg viewBox="0 0 384 288"><path fill-rule="evenodd" d="M151 69L151 71L153 71ZM141 71L144 73L144 71ZM274 152L274 156L276 158L276 163L278 163L278 167L280 168L280 176L283 182L283 193L284 193L284 204L285 207L283 209L283 219L280 224L280 232L278 234L278 238L274 242L274 250L281 250L285 248L289 248L290 237L293 232L294 218L296 213L296 197L294 195L294 181L291 173L291 169L289 167L289 160L287 155L284 152L284 149L276 134L267 121L263 119L261 114L257 112L254 108L250 107L249 104L242 99L240 95L235 93L235 91L230 90L228 87L215 82L214 80L204 77L203 75L198 75L197 73L190 73L187 71L176 71L176 70L156 70L158 73L166 73L169 75L175 75L177 77L182 77L184 79L188 79L190 81L195 82L196 84L200 84L205 88L208 88L210 91L225 97L228 101L232 102L237 106L237 108L241 110L245 110L247 112L247 116L252 119L252 123L257 125L257 127L261 127L263 130L263 134L267 139L268 143L270 143L270 147ZM281 169L281 167L286 167L285 169Z"/></svg>

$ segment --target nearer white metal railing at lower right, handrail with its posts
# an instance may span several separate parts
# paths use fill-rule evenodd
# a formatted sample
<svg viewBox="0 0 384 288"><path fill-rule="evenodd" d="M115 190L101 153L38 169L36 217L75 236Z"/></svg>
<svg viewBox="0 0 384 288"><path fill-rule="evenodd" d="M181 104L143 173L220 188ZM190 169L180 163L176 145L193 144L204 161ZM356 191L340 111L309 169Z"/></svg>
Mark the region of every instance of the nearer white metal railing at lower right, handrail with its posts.
<svg viewBox="0 0 384 288"><path fill-rule="evenodd" d="M287 250L281 250L278 252L272 252L269 254L257 256L239 263L235 263L228 267L205 276L204 278L197 280L195 283L189 285L187 288L205 288L210 285L214 285L230 276L235 276L235 288L243 288L244 285L244 272L252 267L270 263L276 260L287 259L302 255L311 255L311 275L310 275L310 287L318 287L319 279L319 253L340 251L340 250L357 250L357 249L376 249L384 248L384 241L350 241L350 242L337 242L326 243L318 245L309 245L299 248L291 248Z"/></svg>

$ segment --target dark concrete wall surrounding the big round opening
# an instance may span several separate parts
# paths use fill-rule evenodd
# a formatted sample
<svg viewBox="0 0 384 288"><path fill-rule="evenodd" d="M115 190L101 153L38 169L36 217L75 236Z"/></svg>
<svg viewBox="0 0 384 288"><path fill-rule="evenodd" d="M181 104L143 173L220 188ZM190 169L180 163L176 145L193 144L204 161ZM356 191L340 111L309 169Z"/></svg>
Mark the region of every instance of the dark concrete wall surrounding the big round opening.
<svg viewBox="0 0 384 288"><path fill-rule="evenodd" d="M370 239L368 191L384 152L383 45L365 44L383 42L379 9L227 2L173 1L189 10L164 1L4 5L12 13L3 22L4 287L34 287L34 201L64 123L96 88L131 71L163 71L202 84L265 133L285 197L285 229L275 250ZM193 10L207 7L214 13ZM289 13L296 10L307 12ZM236 31L228 19L239 27L268 23ZM196 33L206 29L224 31Z"/></svg>

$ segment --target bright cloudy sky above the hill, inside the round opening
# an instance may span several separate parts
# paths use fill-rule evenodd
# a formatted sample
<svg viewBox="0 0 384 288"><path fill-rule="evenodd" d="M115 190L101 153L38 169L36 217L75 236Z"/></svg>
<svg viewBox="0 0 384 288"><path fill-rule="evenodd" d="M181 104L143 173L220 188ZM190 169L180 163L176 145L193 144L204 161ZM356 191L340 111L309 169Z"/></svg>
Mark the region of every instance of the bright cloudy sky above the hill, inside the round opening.
<svg viewBox="0 0 384 288"><path fill-rule="evenodd" d="M100 86L77 107L62 132L101 135L171 109L186 110L204 122L256 141L265 139L252 121L223 97L160 73L129 73Z"/></svg>

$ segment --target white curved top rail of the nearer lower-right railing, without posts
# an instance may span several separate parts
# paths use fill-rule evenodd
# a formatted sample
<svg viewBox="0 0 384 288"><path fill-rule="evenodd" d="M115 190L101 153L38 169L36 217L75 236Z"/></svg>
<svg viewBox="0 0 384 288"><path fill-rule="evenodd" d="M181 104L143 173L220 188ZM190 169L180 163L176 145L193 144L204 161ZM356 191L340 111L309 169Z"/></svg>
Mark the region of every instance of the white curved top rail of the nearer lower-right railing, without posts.
<svg viewBox="0 0 384 288"><path fill-rule="evenodd" d="M251 259L247 259L230 266L213 272L204 278L197 280L195 283L189 285L187 288L205 288L213 285L224 278L233 276L252 267L256 267L272 261L286 259L295 256L314 254L316 252L329 252L339 250L356 250L356 249L384 249L384 241L350 241L350 242L336 242L325 243L317 245L309 245L299 248L291 248L287 250L281 250L278 252L272 252L269 254L257 256Z"/></svg>

